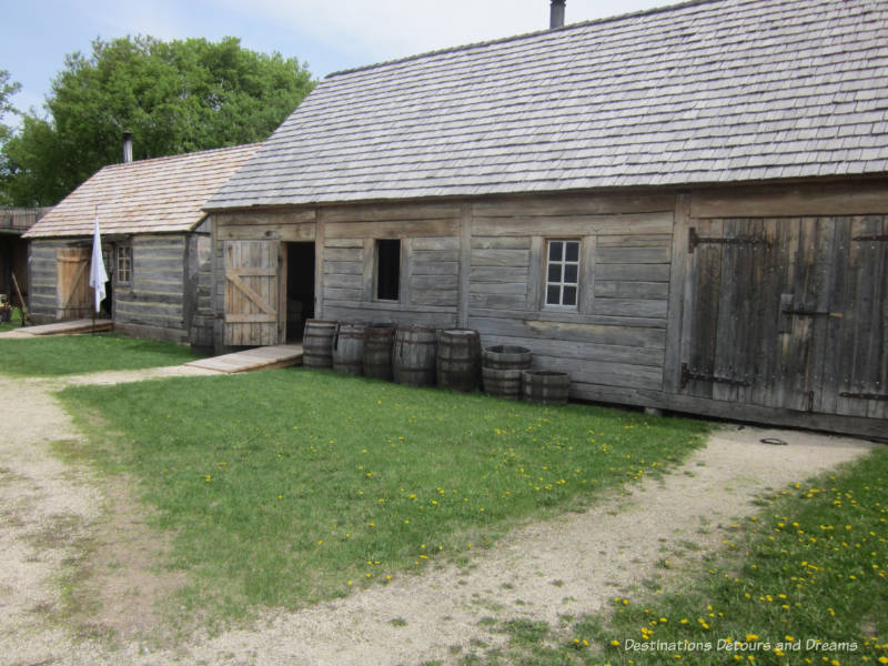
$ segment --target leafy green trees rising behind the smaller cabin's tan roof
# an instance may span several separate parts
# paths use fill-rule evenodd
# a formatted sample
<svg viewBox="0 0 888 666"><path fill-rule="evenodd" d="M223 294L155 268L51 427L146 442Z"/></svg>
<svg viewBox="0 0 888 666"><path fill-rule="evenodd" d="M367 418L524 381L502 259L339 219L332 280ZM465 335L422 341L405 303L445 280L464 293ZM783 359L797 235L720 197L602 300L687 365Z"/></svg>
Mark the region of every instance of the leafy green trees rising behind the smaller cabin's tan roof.
<svg viewBox="0 0 888 666"><path fill-rule="evenodd" d="M65 58L48 117L24 114L3 145L7 198L57 203L122 161L124 131L133 133L137 160L262 141L313 85L297 60L243 49L233 37L97 40L89 58Z"/></svg>

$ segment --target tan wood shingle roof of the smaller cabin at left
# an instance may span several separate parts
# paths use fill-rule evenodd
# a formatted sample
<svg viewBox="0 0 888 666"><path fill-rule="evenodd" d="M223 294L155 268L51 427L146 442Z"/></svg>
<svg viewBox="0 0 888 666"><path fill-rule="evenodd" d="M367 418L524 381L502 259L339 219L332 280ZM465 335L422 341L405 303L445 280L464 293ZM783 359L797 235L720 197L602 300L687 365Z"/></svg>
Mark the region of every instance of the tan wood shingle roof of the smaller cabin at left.
<svg viewBox="0 0 888 666"><path fill-rule="evenodd" d="M169 233L193 229L201 206L259 143L104 167L40 219L24 238Z"/></svg>

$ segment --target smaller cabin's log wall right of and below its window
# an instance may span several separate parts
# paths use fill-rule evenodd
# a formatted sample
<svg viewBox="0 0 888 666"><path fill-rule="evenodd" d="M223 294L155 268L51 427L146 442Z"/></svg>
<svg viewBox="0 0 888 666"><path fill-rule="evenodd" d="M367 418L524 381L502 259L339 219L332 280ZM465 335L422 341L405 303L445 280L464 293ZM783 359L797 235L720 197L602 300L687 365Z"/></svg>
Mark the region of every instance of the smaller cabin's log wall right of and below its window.
<svg viewBox="0 0 888 666"><path fill-rule="evenodd" d="M115 285L115 324L160 329L155 336L188 340L185 243L185 235L132 239L132 280Z"/></svg>

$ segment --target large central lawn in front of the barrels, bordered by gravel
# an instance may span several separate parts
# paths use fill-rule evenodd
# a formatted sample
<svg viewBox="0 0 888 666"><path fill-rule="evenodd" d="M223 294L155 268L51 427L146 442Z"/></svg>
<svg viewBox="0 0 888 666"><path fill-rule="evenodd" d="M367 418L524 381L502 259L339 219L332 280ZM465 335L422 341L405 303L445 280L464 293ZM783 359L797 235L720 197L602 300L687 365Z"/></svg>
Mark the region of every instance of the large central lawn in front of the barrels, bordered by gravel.
<svg viewBox="0 0 888 666"><path fill-rule="evenodd" d="M524 518L659 474L708 432L302 369L61 396L99 443L80 453L131 474L175 533L186 606L222 617L471 556Z"/></svg>

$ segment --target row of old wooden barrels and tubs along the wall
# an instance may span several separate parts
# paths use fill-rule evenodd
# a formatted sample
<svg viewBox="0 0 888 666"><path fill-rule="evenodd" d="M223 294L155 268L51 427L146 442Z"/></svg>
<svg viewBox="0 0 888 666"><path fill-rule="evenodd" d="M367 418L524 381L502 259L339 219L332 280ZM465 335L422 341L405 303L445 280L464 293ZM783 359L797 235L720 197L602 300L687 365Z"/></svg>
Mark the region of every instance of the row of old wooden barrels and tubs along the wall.
<svg viewBox="0 0 888 666"><path fill-rule="evenodd" d="M566 373L531 370L532 353L518 346L481 349L477 331L422 326L305 322L303 365L394 381L441 386L542 404L565 404Z"/></svg>

